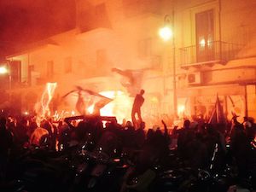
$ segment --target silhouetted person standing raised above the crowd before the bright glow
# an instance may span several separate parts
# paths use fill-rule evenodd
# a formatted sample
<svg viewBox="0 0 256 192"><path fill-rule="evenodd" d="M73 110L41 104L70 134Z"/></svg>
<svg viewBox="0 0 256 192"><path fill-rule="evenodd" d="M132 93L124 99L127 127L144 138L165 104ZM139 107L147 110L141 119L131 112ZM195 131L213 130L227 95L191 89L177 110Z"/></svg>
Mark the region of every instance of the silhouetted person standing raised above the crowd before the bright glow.
<svg viewBox="0 0 256 192"><path fill-rule="evenodd" d="M145 90L141 90L140 93L135 96L135 99L133 102L133 106L131 110L131 120L135 128L137 128L143 122L141 108L144 102L144 97L143 97L144 92ZM136 119L136 114L137 114L138 121Z"/></svg>

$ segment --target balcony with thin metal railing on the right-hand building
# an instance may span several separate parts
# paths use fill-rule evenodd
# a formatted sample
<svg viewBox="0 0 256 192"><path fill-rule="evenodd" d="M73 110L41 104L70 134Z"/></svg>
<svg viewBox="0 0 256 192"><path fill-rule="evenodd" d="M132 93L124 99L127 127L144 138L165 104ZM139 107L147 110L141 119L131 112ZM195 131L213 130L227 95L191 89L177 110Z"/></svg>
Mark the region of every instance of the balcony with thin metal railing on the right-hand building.
<svg viewBox="0 0 256 192"><path fill-rule="evenodd" d="M179 49L180 64L184 69L202 66L212 67L214 64L225 65L228 61L237 58L242 47L241 44L222 41L184 47Z"/></svg>

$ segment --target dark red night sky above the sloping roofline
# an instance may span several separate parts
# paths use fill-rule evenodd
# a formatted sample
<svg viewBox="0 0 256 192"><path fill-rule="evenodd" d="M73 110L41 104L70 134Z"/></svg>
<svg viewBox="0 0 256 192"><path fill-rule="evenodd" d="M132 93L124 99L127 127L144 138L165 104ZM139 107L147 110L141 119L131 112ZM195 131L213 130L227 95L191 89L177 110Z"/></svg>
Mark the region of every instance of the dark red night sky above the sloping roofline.
<svg viewBox="0 0 256 192"><path fill-rule="evenodd" d="M0 56L75 26L75 0L0 0Z"/></svg>

